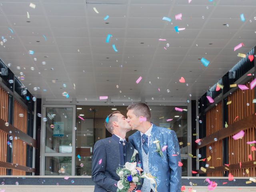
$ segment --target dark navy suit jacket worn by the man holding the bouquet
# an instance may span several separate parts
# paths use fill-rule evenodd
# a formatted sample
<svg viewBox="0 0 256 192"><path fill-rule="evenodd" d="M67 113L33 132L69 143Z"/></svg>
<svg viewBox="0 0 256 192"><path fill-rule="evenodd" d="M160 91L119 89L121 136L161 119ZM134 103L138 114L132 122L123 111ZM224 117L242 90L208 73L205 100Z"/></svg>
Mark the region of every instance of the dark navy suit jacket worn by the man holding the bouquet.
<svg viewBox="0 0 256 192"><path fill-rule="evenodd" d="M92 180L95 182L94 192L116 192L120 180L116 168L124 165L123 151L120 150L119 138L115 135L98 140L94 145L92 156ZM130 162L134 146L126 142L126 162Z"/></svg>

